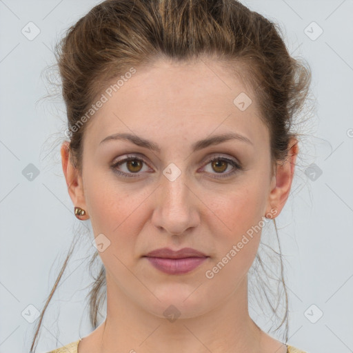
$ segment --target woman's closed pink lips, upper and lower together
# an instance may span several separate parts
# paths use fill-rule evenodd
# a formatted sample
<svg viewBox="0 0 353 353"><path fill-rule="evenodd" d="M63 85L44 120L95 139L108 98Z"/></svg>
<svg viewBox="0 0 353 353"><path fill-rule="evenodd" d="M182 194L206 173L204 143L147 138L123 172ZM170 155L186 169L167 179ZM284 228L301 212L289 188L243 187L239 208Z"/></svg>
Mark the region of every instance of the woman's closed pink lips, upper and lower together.
<svg viewBox="0 0 353 353"><path fill-rule="evenodd" d="M148 261L162 272L184 274L201 265L209 256L192 248L183 248L178 251L161 248L148 252L144 257L147 257Z"/></svg>

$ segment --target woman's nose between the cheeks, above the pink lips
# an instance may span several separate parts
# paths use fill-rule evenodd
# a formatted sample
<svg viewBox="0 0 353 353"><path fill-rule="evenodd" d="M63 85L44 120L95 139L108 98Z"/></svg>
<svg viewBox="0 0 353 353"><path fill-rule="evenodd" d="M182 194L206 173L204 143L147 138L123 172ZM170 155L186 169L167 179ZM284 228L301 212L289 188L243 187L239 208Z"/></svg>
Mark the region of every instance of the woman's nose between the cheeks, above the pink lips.
<svg viewBox="0 0 353 353"><path fill-rule="evenodd" d="M152 224L165 234L192 232L200 222L197 205L201 202L196 190L192 189L192 183L183 173L174 181L163 176L157 190Z"/></svg>

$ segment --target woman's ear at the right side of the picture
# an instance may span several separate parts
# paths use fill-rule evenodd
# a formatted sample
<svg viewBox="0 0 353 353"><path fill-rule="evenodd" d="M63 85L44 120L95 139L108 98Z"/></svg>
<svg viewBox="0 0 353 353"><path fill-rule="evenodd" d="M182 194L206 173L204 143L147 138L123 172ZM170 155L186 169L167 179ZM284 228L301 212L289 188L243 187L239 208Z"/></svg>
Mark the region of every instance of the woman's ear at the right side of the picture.
<svg viewBox="0 0 353 353"><path fill-rule="evenodd" d="M289 146L290 150L288 151L287 158L283 163L276 165L276 174L272 177L267 210L267 214L274 214L273 210L276 210L272 218L281 213L292 186L296 157L299 153L298 140L295 138L290 139Z"/></svg>

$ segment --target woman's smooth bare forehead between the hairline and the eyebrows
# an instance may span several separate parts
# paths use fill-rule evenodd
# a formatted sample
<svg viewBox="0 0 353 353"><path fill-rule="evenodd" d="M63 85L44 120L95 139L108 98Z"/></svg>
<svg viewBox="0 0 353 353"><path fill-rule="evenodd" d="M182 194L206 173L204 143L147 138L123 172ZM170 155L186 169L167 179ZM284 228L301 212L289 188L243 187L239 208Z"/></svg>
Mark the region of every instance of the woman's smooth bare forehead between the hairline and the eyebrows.
<svg viewBox="0 0 353 353"><path fill-rule="evenodd" d="M197 133L202 138L214 130L263 137L256 97L242 79L244 73L240 76L236 69L203 59L158 60L136 68L123 84L116 84L119 78L112 80L85 135L95 144L117 132L159 138L163 134L169 141L180 140L181 134L184 140Z"/></svg>

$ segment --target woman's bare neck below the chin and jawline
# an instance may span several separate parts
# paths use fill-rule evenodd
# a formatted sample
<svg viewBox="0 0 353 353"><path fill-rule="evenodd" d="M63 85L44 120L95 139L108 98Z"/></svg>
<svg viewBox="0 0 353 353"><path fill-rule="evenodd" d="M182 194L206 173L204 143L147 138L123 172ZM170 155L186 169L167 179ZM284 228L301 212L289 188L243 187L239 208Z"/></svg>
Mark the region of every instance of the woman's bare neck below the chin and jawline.
<svg viewBox="0 0 353 353"><path fill-rule="evenodd" d="M167 305L168 307L168 305ZM263 332L248 314L248 280L199 316L169 321L137 305L107 276L107 316L97 352L255 353Z"/></svg>

